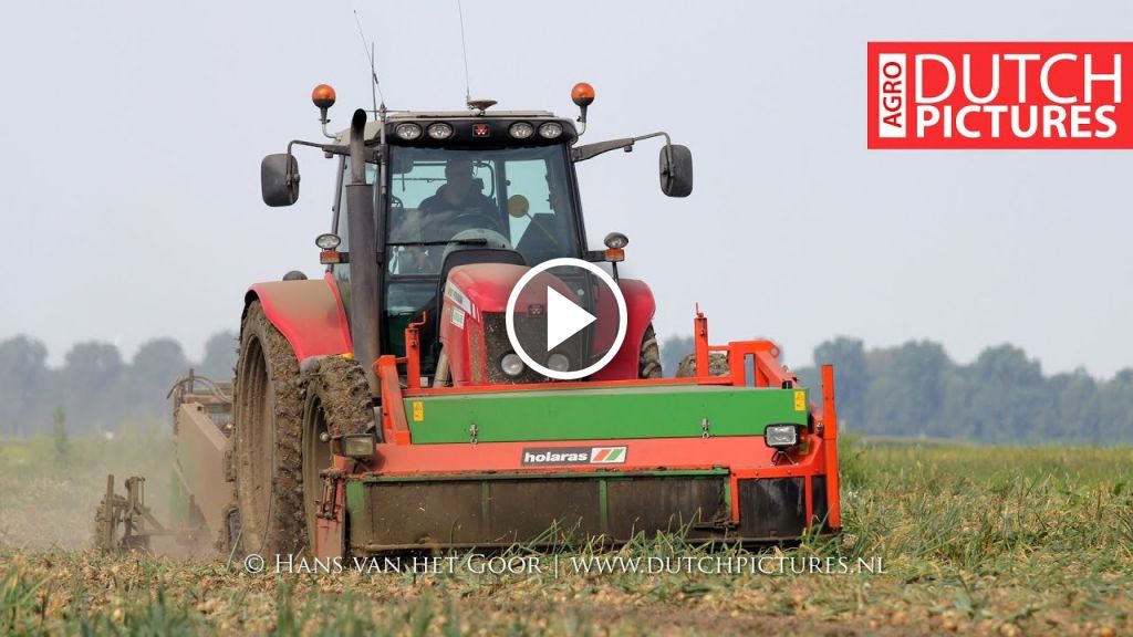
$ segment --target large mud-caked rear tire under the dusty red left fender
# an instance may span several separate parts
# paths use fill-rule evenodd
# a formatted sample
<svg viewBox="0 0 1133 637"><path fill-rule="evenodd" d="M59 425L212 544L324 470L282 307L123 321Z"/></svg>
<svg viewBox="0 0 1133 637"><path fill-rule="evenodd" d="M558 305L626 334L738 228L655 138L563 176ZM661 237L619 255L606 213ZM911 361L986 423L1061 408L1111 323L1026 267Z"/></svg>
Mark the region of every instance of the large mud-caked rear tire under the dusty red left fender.
<svg viewBox="0 0 1133 637"><path fill-rule="evenodd" d="M240 326L232 406L238 553L291 554L305 544L303 406L295 351L255 300Z"/></svg>

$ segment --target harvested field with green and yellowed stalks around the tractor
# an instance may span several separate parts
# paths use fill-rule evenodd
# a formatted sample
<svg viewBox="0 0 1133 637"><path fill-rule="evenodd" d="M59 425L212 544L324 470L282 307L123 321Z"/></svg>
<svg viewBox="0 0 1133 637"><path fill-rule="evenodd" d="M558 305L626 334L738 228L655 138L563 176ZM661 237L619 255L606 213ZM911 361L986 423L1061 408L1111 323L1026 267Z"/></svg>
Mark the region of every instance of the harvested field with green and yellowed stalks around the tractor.
<svg viewBox="0 0 1133 637"><path fill-rule="evenodd" d="M663 536L509 553L556 571L250 575L228 555L90 550L107 473L151 476L163 513L161 430L0 444L0 634L1133 634L1133 450L842 447L845 533L796 547L709 552ZM625 567L665 557L708 568Z"/></svg>

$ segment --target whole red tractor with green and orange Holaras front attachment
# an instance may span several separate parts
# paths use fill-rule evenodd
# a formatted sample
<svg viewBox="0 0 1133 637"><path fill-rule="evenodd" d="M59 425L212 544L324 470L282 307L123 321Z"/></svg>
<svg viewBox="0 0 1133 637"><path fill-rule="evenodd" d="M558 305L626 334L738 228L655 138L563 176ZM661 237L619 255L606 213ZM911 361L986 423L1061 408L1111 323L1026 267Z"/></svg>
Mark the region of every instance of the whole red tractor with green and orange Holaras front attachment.
<svg viewBox="0 0 1133 637"><path fill-rule="evenodd" d="M331 232L316 240L326 272L252 286L231 396L193 379L177 392L182 528L316 557L840 529L833 370L815 394L770 341L710 345L698 309L695 372L662 377L653 295L617 278L623 235L586 245L576 164L663 137L662 190L683 197L691 154L664 133L579 144L594 90L572 97L577 120L476 100L358 110L331 135L334 92L316 87L330 139L265 158L262 187L269 205L295 203L293 146L338 161ZM505 329L512 288L563 257L612 267L625 305L610 363L571 381L525 365ZM569 283L572 303L611 311L593 281ZM521 301L516 321L539 309ZM595 330L536 356L585 367L605 354Z"/></svg>

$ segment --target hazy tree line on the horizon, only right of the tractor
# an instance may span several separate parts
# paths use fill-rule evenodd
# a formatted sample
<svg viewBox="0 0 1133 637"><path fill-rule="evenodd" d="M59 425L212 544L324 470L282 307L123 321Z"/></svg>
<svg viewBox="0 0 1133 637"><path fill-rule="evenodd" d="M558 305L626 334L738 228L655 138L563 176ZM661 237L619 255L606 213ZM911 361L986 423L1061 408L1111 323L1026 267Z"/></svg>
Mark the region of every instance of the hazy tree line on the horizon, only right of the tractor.
<svg viewBox="0 0 1133 637"><path fill-rule="evenodd" d="M690 351L691 337L664 341L666 373ZM1083 370L1048 376L1012 345L989 347L960 365L931 341L867 350L860 339L844 337L820 343L813 360L835 367L846 431L999 444L1133 443L1133 367L1108 380ZM818 368L793 371L817 396Z"/></svg>

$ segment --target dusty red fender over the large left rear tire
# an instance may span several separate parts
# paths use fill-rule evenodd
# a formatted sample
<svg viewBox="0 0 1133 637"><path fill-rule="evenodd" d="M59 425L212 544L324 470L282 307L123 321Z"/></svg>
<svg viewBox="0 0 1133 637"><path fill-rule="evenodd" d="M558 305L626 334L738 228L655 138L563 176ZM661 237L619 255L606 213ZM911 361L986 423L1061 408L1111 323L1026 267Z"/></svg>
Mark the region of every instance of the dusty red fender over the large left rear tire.
<svg viewBox="0 0 1133 637"><path fill-rule="evenodd" d="M314 356L352 350L350 326L330 274L321 280L256 283L244 297L245 314L254 300L259 300L264 315L291 343L300 365Z"/></svg>

